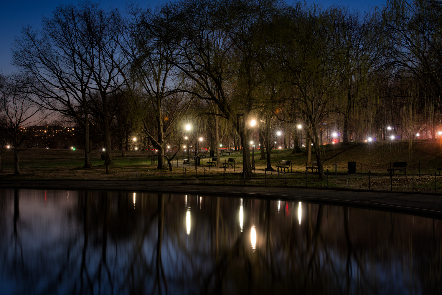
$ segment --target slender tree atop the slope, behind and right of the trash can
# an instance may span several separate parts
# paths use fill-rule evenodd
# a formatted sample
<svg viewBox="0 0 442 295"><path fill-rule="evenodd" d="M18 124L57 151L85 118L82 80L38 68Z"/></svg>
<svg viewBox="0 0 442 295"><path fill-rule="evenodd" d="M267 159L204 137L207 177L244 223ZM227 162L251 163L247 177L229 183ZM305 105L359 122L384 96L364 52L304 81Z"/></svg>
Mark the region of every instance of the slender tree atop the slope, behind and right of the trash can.
<svg viewBox="0 0 442 295"><path fill-rule="evenodd" d="M376 15L367 12L361 16L345 8L336 9L336 13L342 21L335 27L335 40L343 54L337 60L342 71L334 111L339 114L343 144L348 145L354 131L361 134L370 127L371 112L365 99L382 61L383 34L379 33Z"/></svg>

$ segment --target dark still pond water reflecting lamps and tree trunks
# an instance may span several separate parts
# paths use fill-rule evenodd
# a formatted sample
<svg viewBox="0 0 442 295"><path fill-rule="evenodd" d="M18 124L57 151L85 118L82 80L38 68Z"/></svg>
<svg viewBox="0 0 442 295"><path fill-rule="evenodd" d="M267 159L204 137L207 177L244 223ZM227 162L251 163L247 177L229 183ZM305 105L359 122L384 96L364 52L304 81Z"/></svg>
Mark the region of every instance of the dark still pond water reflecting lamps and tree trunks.
<svg viewBox="0 0 442 295"><path fill-rule="evenodd" d="M442 222L286 200L0 190L0 294L440 294Z"/></svg>

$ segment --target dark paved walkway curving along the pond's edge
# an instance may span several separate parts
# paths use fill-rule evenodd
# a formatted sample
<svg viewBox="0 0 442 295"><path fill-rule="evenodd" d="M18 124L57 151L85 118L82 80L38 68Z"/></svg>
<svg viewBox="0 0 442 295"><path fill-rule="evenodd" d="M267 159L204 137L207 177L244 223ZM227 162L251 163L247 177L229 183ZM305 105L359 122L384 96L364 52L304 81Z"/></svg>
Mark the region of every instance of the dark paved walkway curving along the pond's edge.
<svg viewBox="0 0 442 295"><path fill-rule="evenodd" d="M156 193L228 195L254 198L300 200L352 207L371 207L414 215L442 218L441 195L387 192L351 192L309 188L203 185L198 180L0 180L0 188L60 190L124 190Z"/></svg>

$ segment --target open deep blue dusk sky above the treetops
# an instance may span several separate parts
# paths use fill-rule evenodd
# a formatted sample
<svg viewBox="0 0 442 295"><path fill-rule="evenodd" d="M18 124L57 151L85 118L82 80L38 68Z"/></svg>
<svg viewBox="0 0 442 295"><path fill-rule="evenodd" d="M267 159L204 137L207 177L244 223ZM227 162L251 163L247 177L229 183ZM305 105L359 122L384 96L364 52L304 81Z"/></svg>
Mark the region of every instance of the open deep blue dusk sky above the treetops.
<svg viewBox="0 0 442 295"><path fill-rule="evenodd" d="M155 7L156 4L163 3L162 0L140 0L138 4L140 6ZM328 8L334 2L336 4L345 5L349 8L360 9L361 11L367 10L373 6L379 6L385 4L385 0L307 0L308 5L313 3L322 4L324 8ZM11 66L11 44L14 41L15 36L20 35L20 31L23 26L32 25L34 28L39 28L43 15L50 15L53 9L59 4L77 3L77 1L20 1L20 0L5 0L0 9L0 72L8 74L16 71ZM104 8L118 7L124 10L126 6L126 0L102 0L100 1ZM289 2L288 3L292 3Z"/></svg>

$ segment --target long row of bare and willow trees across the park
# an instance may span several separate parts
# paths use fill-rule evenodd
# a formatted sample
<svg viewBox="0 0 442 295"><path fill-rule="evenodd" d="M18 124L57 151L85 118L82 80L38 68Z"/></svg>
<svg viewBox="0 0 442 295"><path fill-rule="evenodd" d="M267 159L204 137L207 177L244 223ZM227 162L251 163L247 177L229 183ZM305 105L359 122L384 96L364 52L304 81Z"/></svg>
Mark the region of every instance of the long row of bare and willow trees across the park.
<svg viewBox="0 0 442 295"><path fill-rule="evenodd" d="M309 162L314 153L322 179L320 146L333 140L440 135L441 9L440 1L388 1L364 13L278 0L182 0L125 13L60 5L14 42L19 74L2 76L1 138L18 173L19 150L31 145L17 130L44 110L82 130L84 168L97 146L109 165L112 150L123 155L136 140L155 151L158 169L172 169L183 146L202 138L215 151L242 150L246 175L251 144L269 164L279 146Z"/></svg>

